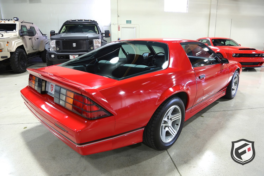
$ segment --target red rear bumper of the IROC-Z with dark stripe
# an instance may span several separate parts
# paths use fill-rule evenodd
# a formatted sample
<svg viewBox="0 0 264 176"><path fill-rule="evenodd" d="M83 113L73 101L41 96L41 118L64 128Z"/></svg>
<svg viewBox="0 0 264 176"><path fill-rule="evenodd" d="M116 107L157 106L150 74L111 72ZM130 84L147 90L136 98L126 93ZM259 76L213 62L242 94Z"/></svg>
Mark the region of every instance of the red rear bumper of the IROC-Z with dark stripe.
<svg viewBox="0 0 264 176"><path fill-rule="evenodd" d="M112 150L114 116L87 120L53 103L53 97L39 94L29 86L21 90L21 96L40 123L79 154Z"/></svg>

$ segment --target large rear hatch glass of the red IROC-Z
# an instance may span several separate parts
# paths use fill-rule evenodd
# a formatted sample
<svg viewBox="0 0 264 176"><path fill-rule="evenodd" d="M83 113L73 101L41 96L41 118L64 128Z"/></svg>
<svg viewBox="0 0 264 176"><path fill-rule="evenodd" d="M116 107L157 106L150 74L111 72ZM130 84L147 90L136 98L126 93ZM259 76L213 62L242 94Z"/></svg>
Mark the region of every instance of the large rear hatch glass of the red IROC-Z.
<svg viewBox="0 0 264 176"><path fill-rule="evenodd" d="M58 66L121 80L168 67L168 46L149 41L116 41Z"/></svg>

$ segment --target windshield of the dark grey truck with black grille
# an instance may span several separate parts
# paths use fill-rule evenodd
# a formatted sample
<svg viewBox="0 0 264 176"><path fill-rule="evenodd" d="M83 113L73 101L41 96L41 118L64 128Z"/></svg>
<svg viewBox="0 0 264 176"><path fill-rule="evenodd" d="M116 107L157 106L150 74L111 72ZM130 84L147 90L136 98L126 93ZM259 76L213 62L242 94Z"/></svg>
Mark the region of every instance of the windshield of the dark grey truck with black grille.
<svg viewBox="0 0 264 176"><path fill-rule="evenodd" d="M67 24L59 31L60 33L98 33L98 29L94 24Z"/></svg>

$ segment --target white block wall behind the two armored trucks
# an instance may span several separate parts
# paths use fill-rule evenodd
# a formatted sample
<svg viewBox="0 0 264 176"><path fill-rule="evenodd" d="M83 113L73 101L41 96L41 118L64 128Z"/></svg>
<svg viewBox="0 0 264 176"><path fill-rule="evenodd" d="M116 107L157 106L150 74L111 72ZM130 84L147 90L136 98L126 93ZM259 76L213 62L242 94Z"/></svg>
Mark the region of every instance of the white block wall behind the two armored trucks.
<svg viewBox="0 0 264 176"><path fill-rule="evenodd" d="M95 20L102 32L110 30L110 0L0 0L0 5L3 18L33 22L48 38L71 19Z"/></svg>

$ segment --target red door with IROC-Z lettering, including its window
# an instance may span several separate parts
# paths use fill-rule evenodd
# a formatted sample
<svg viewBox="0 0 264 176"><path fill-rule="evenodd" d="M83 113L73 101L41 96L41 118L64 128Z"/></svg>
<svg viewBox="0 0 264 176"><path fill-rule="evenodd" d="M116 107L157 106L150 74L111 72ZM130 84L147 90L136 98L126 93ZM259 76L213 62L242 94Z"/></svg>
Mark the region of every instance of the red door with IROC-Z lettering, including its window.
<svg viewBox="0 0 264 176"><path fill-rule="evenodd" d="M195 71L197 93L191 112L210 101L224 89L229 78L226 64L221 64L217 54L201 43L182 44Z"/></svg>

